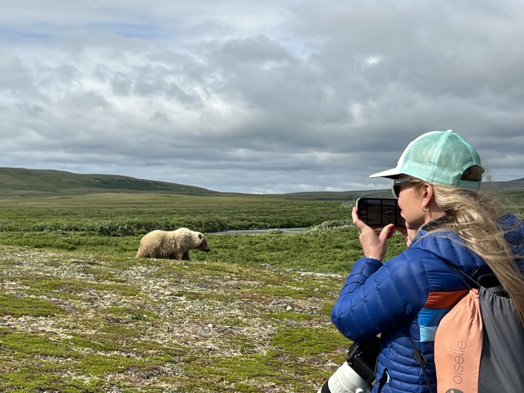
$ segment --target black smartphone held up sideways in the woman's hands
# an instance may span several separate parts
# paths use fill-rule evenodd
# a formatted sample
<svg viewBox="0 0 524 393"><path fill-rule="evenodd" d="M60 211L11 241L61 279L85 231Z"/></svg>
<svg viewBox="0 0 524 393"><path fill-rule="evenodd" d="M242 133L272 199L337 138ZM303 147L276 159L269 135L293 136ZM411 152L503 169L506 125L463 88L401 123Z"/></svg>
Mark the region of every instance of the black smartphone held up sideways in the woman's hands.
<svg viewBox="0 0 524 393"><path fill-rule="evenodd" d="M395 198L358 198L357 214L369 226L406 226Z"/></svg>

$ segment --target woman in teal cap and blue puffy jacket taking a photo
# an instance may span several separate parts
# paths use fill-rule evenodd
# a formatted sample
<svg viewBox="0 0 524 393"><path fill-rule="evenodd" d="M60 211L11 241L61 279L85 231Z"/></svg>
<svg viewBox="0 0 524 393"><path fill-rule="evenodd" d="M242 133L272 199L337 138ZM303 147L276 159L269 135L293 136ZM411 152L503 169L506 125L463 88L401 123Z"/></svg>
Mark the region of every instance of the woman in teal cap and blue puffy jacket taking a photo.
<svg viewBox="0 0 524 393"><path fill-rule="evenodd" d="M365 257L355 262L331 317L354 341L381 333L373 393L436 392L433 341L449 309L439 302L458 301L466 288L452 266L475 279L493 271L524 325L522 260L514 256L524 254L524 225L509 215L499 220L496 203L476 191L483 171L475 149L450 130L421 135L396 168L370 176L392 179L406 221L408 249L384 264L395 228L377 234L353 208Z"/></svg>

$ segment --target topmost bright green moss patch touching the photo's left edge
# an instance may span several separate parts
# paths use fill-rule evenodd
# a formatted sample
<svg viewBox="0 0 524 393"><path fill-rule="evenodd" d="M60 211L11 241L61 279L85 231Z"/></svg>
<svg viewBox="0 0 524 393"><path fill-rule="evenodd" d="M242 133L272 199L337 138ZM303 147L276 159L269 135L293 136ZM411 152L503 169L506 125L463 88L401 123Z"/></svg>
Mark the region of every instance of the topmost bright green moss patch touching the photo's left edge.
<svg viewBox="0 0 524 393"><path fill-rule="evenodd" d="M18 318L22 315L49 316L61 313L63 310L49 300L0 293L0 316L12 315Z"/></svg>

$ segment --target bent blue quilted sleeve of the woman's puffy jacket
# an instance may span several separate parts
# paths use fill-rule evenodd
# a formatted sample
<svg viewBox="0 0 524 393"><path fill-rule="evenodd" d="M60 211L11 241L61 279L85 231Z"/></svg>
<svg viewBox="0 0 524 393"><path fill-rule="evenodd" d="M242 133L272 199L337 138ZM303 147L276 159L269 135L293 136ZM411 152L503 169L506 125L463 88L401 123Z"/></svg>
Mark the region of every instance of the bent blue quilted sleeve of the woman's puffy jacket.
<svg viewBox="0 0 524 393"><path fill-rule="evenodd" d="M363 341L417 313L429 293L424 257L406 250L384 264L357 260L331 313L337 329L350 340Z"/></svg>

